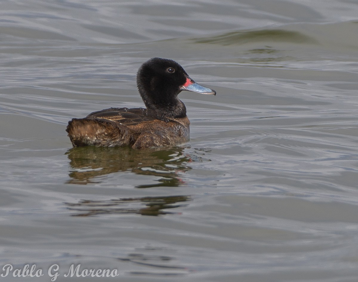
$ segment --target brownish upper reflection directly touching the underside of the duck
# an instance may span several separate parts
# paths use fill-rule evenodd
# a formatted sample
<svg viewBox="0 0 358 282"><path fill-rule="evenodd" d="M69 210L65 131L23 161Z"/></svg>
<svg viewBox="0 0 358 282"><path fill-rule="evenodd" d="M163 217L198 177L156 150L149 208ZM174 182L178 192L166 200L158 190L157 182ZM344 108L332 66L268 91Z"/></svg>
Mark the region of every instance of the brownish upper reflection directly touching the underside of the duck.
<svg viewBox="0 0 358 282"><path fill-rule="evenodd" d="M180 147L167 150L138 151L129 147L77 147L66 152L71 160L69 176L72 184L95 183L96 177L119 171L132 171L135 174L152 175L159 183L136 186L137 188L178 186L182 184L178 171L189 170L186 165L189 157Z"/></svg>

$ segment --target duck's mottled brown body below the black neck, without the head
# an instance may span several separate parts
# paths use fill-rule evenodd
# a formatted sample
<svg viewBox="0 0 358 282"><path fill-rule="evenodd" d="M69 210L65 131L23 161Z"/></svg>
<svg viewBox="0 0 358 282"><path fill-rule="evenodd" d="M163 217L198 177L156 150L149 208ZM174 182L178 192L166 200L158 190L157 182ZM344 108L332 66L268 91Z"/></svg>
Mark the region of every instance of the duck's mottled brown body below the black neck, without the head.
<svg viewBox="0 0 358 282"><path fill-rule="evenodd" d="M173 146L189 140L189 120L159 120L145 108L109 108L73 118L66 131L73 146Z"/></svg>

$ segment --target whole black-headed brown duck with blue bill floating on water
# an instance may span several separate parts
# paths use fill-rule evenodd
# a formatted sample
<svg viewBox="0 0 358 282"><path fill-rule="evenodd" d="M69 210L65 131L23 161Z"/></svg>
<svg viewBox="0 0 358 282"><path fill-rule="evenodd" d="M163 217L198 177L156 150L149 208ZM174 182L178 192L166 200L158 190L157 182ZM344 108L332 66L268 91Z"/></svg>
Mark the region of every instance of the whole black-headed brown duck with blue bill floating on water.
<svg viewBox="0 0 358 282"><path fill-rule="evenodd" d="M190 121L178 94L185 90L216 95L171 59L149 59L139 68L136 81L146 108L108 108L72 118L66 131L73 147L145 149L183 144L189 141Z"/></svg>

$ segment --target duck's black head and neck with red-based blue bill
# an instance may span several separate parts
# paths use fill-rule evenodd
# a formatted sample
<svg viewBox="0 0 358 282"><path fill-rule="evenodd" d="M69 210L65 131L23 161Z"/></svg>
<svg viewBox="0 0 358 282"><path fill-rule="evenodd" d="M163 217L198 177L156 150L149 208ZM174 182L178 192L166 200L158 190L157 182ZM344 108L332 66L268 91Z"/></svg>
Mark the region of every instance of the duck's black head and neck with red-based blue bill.
<svg viewBox="0 0 358 282"><path fill-rule="evenodd" d="M137 87L148 109L170 118L186 116L184 103L177 97L182 90L216 94L213 89L193 81L177 62L162 58L142 64L137 73Z"/></svg>

